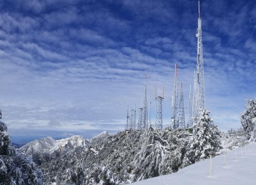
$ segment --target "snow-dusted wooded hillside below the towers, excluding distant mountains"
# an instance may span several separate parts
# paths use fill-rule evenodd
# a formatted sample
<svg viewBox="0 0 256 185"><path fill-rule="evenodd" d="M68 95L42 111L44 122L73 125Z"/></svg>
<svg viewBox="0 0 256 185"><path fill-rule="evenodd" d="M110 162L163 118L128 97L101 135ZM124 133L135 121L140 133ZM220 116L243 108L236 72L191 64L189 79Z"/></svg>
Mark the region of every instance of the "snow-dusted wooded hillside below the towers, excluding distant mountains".
<svg viewBox="0 0 256 185"><path fill-rule="evenodd" d="M183 129L118 133L77 147L40 166L45 184L126 184L178 171L191 161Z"/></svg>

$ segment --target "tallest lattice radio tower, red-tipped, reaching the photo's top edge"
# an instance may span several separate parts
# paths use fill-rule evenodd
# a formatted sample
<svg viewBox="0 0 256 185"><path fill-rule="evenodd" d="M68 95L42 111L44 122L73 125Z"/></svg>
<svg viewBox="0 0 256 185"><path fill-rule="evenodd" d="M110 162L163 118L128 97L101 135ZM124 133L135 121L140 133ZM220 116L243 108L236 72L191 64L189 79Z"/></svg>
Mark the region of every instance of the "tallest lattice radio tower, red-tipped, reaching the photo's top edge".
<svg viewBox="0 0 256 185"><path fill-rule="evenodd" d="M197 65L196 65L196 76L194 79L194 105L193 114L194 117L199 115L200 109L205 109L205 91L204 91L204 62L203 62L203 47L202 47L202 29L201 29L201 18L200 18L200 1L198 1L198 27L196 30L197 37Z"/></svg>

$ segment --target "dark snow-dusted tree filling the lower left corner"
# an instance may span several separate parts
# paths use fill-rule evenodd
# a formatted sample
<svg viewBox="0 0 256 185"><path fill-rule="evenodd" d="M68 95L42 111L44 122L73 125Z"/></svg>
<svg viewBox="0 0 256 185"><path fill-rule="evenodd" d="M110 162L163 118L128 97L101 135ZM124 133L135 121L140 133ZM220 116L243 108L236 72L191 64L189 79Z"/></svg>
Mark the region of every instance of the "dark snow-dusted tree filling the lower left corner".
<svg viewBox="0 0 256 185"><path fill-rule="evenodd" d="M11 145L7 126L0 121L0 184L41 185L43 173L32 158L17 152Z"/></svg>

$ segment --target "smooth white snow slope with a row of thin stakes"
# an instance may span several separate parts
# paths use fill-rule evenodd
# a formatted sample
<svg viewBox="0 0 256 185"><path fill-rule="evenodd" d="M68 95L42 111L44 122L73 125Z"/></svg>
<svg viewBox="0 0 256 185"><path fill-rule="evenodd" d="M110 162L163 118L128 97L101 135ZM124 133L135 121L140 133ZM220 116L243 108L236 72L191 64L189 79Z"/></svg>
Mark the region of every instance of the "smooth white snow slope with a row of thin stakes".
<svg viewBox="0 0 256 185"><path fill-rule="evenodd" d="M197 162L180 169L176 173L153 177L134 182L137 185L240 185L256 184L256 142L236 148L225 155L212 158L212 176L210 177L210 159Z"/></svg>

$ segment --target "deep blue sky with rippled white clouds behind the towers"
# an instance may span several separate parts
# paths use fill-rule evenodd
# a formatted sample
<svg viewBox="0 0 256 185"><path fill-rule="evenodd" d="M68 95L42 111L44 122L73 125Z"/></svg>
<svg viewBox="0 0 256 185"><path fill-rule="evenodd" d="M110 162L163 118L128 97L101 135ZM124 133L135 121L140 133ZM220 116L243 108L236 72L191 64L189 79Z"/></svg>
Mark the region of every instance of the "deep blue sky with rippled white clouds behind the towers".
<svg viewBox="0 0 256 185"><path fill-rule="evenodd" d="M206 108L219 129L237 129L256 97L256 4L202 0L200 18ZM3 0L0 109L12 141L124 130L146 72L152 122L164 84L169 126L175 63L187 111L193 92L197 19L196 0Z"/></svg>

